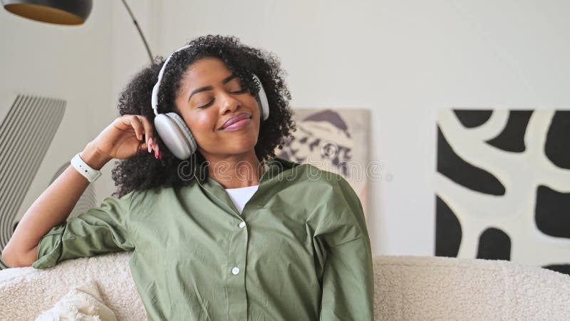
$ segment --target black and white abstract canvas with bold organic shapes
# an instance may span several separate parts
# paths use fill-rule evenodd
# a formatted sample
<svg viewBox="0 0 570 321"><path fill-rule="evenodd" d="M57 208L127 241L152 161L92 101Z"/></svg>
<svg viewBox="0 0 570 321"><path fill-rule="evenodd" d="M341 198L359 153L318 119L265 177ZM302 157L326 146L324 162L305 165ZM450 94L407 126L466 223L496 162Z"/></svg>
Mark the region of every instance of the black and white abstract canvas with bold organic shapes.
<svg viewBox="0 0 570 321"><path fill-rule="evenodd" d="M435 255L570 274L570 111L441 110Z"/></svg>

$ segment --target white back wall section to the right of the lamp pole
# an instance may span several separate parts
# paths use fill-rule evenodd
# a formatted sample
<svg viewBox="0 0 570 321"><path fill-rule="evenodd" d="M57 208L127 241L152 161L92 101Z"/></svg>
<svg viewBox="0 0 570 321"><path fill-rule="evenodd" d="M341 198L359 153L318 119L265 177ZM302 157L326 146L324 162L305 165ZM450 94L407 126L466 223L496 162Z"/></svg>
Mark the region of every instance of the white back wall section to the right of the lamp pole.
<svg viewBox="0 0 570 321"><path fill-rule="evenodd" d="M433 255L437 108L568 108L568 1L165 1L160 54L232 34L281 57L292 106L370 108L373 252Z"/></svg>

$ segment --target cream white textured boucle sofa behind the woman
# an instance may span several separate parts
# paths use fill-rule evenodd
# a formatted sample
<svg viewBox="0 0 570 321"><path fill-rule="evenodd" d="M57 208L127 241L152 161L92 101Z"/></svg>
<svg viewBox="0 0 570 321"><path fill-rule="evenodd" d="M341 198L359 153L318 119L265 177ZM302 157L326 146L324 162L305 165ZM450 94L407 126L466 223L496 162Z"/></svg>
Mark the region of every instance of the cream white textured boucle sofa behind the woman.
<svg viewBox="0 0 570 321"><path fill-rule="evenodd" d="M0 271L0 320L34 320L95 280L118 320L145 320L130 253ZM507 261L376 256L375 320L570 320L570 277Z"/></svg>

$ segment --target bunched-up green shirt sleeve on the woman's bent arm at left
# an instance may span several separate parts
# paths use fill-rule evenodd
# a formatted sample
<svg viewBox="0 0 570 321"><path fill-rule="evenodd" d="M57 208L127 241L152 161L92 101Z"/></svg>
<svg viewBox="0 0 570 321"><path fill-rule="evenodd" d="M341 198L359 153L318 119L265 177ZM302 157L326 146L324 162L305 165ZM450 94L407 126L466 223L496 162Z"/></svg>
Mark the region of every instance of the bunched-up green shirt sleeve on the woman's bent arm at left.
<svg viewBox="0 0 570 321"><path fill-rule="evenodd" d="M126 224L132 195L105 198L99 207L51 228L40 239L37 260L31 266L46 269L63 260L134 250Z"/></svg>

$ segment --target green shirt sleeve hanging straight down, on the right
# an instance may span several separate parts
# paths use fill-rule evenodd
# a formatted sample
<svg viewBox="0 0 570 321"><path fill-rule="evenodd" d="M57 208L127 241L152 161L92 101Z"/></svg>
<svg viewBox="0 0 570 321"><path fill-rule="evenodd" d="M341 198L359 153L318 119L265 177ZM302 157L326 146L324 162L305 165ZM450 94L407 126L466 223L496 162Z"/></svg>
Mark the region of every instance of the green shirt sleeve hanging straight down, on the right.
<svg viewBox="0 0 570 321"><path fill-rule="evenodd" d="M372 251L363 208L349 183L340 178L321 203L314 236L322 267L319 320L373 320Z"/></svg>

